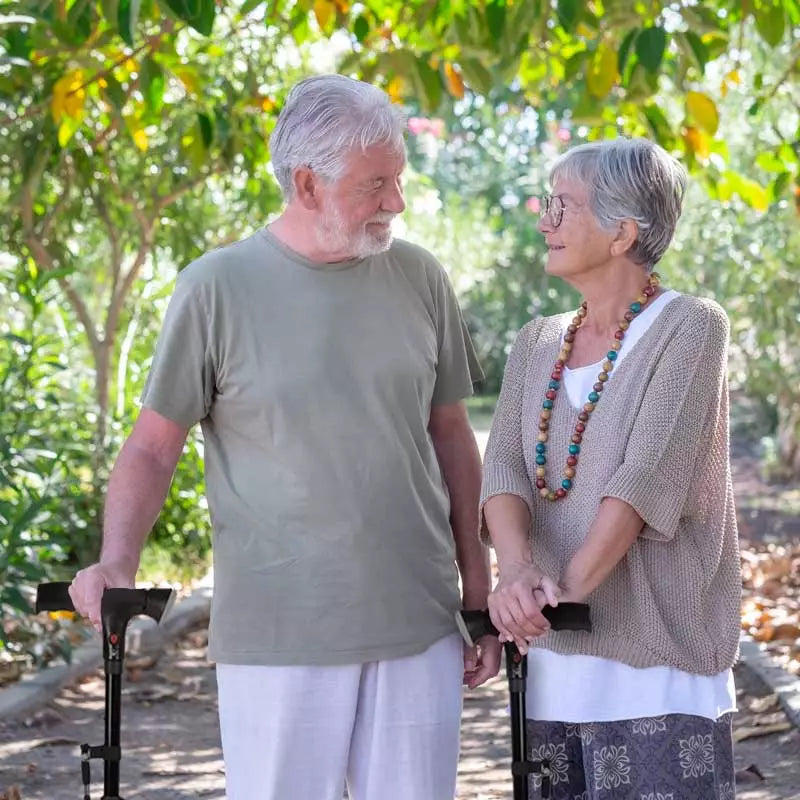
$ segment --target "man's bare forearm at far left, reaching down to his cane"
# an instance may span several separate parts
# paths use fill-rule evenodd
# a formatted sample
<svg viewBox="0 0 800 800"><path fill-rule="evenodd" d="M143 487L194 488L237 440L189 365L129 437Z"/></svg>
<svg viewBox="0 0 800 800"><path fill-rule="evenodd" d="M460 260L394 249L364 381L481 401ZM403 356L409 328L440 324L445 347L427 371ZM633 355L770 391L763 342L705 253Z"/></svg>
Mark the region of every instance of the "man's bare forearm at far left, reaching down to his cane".
<svg viewBox="0 0 800 800"><path fill-rule="evenodd" d="M114 562L130 578L139 568L147 535L169 491L174 467L128 440L108 482L103 516L102 562Z"/></svg>

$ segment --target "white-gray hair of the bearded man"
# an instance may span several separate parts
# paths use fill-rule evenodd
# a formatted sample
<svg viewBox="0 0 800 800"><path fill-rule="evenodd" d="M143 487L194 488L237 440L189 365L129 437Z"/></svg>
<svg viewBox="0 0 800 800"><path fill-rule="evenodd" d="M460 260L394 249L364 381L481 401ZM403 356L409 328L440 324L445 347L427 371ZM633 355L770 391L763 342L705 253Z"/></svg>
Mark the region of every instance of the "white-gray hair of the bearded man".
<svg viewBox="0 0 800 800"><path fill-rule="evenodd" d="M269 142L283 196L292 198L298 167L310 167L334 183L356 147L388 144L404 151L405 128L403 110L376 86L344 75L300 81L289 92Z"/></svg>

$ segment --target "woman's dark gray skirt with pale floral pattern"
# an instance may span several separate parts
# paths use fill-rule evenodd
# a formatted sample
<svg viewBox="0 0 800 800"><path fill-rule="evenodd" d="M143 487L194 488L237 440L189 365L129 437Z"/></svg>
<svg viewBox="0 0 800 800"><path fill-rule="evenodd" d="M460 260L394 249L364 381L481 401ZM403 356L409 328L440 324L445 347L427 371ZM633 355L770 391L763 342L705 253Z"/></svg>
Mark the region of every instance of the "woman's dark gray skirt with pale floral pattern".
<svg viewBox="0 0 800 800"><path fill-rule="evenodd" d="M550 800L733 800L732 715L618 722L528 720L528 755L550 762ZM539 798L541 777L530 777Z"/></svg>

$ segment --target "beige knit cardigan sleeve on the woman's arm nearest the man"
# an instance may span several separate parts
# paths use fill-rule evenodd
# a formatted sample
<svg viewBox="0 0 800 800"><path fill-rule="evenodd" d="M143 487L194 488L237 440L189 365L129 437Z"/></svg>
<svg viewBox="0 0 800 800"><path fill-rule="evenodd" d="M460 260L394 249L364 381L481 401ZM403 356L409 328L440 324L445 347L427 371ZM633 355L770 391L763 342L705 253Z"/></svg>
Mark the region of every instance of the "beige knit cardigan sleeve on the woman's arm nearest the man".
<svg viewBox="0 0 800 800"><path fill-rule="evenodd" d="M533 487L525 466L522 442L522 400L528 356L531 343L536 339L534 327L538 324L529 322L517 334L503 373L503 385L483 459L480 534L485 542L489 541L489 530L483 507L490 498L498 494L516 495L525 501L528 510L533 513Z"/></svg>

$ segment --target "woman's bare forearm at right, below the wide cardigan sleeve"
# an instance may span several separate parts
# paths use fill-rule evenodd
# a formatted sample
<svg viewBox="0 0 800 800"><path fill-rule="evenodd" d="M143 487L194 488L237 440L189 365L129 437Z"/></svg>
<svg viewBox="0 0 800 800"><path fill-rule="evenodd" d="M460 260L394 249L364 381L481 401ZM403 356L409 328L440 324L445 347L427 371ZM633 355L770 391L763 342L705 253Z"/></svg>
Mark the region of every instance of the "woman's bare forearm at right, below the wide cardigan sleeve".
<svg viewBox="0 0 800 800"><path fill-rule="evenodd" d="M604 498L586 539L561 575L561 599L580 601L593 592L622 560L643 526L644 520L628 503Z"/></svg>

